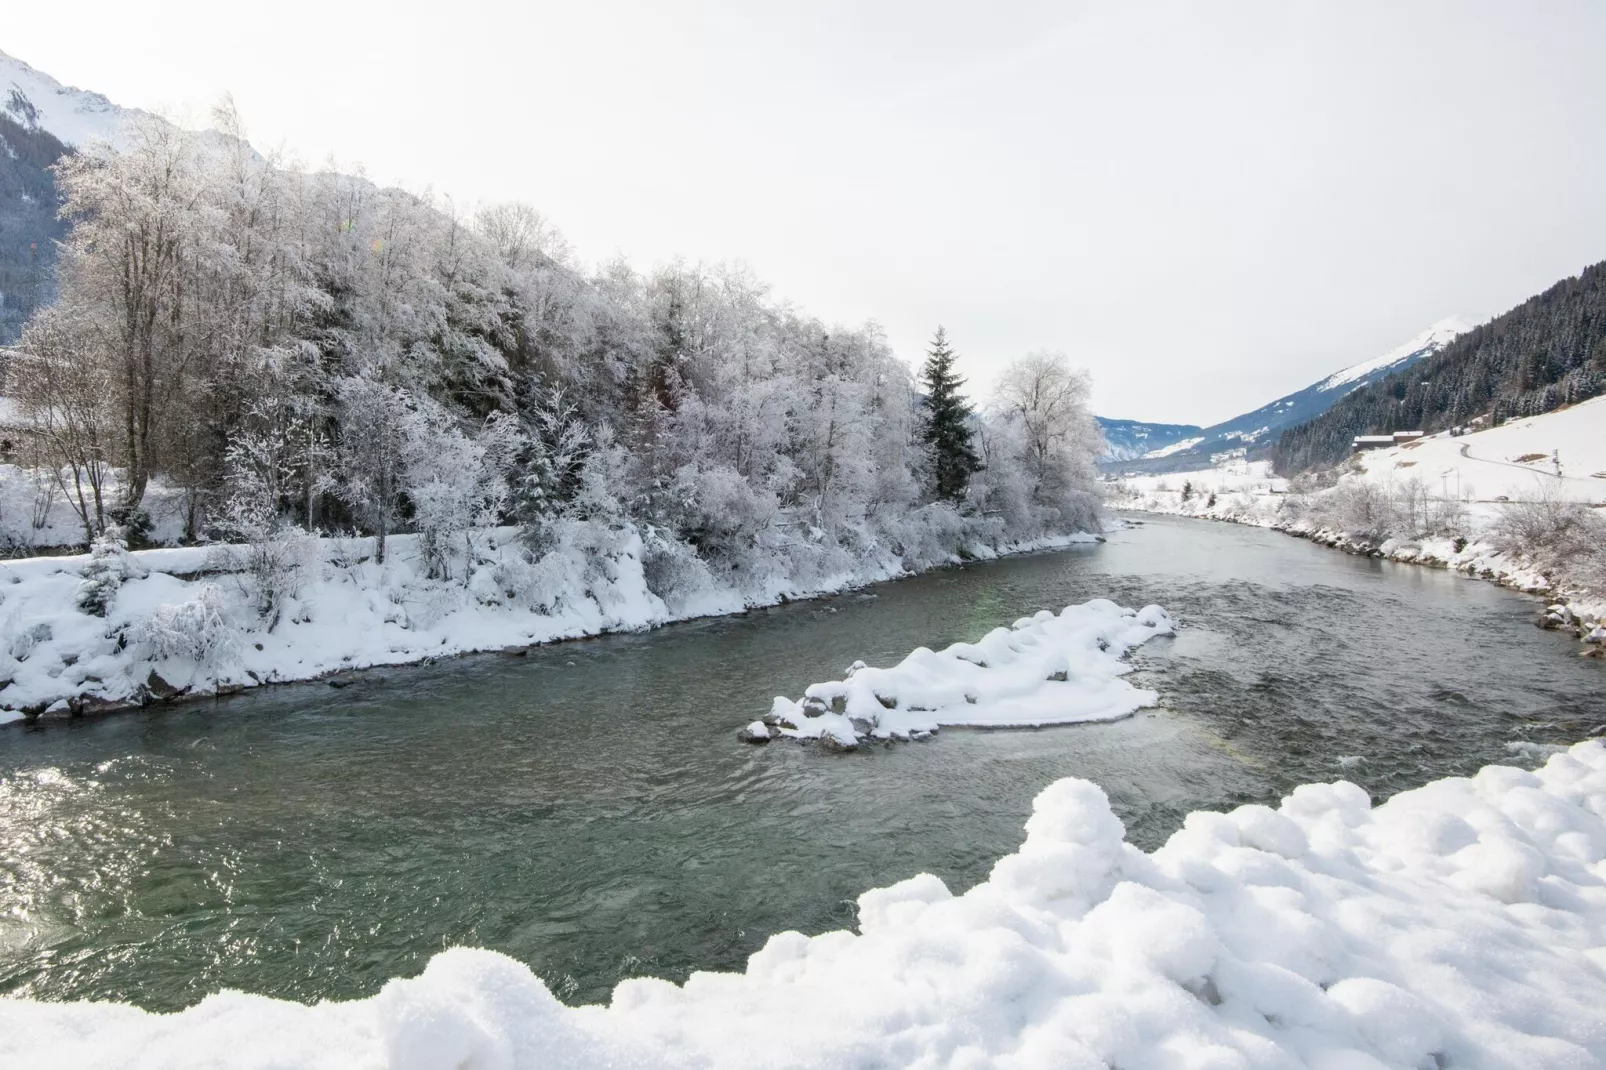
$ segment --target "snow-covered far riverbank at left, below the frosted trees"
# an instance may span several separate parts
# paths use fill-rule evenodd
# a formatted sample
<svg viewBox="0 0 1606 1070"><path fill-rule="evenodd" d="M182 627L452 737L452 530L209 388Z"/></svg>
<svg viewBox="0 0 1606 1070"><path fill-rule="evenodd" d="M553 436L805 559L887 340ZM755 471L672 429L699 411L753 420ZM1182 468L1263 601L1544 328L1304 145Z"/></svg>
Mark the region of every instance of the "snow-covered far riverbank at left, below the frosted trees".
<svg viewBox="0 0 1606 1070"><path fill-rule="evenodd" d="M650 537L649 537L650 538ZM313 680L475 651L639 631L891 580L962 557L1055 549L1057 535L915 554L821 554L814 569L736 582L686 553L665 554L633 525L567 524L543 554L517 529L480 533L453 575L429 578L418 537L324 538L284 548L296 580L270 615L244 548L181 548L0 562L0 725L149 700ZM108 585L104 615L85 575Z"/></svg>

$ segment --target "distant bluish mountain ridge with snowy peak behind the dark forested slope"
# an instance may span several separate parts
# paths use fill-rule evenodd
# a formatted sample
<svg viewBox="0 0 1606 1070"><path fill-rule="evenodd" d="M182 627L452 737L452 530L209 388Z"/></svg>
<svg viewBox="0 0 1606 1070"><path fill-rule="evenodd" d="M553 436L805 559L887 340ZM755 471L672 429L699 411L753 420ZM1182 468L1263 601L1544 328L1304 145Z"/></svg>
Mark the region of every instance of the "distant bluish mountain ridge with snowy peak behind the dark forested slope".
<svg viewBox="0 0 1606 1070"><path fill-rule="evenodd" d="M1137 458L1107 458L1105 468L1118 466L1123 471L1187 471L1209 464L1213 453L1243 448L1249 453L1267 455L1275 447L1278 437L1288 427L1298 427L1331 408L1346 395L1360 390L1373 382L1389 378L1412 365L1442 352L1450 342L1466 331L1466 325L1449 317L1439 320L1421 331L1408 342L1391 349L1381 357L1362 360L1360 363L1341 368L1333 374L1312 382L1310 386L1285 394L1283 397L1256 410L1233 416L1219 424L1196 429L1198 442L1185 450L1172 450L1161 455L1150 451ZM1169 427L1174 424L1158 424ZM1185 439L1188 435L1177 435ZM1177 439L1172 439L1176 442Z"/></svg>

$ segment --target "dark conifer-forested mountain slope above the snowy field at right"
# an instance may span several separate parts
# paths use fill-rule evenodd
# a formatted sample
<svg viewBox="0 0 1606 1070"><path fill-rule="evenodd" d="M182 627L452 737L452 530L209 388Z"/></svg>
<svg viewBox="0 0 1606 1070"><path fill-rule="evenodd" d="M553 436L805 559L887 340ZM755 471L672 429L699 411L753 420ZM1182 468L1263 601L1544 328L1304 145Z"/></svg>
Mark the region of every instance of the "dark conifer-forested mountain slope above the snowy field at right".
<svg viewBox="0 0 1606 1070"><path fill-rule="evenodd" d="M1327 468L1363 434L1500 426L1606 394L1606 262L1584 268L1410 368L1368 379L1277 443L1278 472Z"/></svg>

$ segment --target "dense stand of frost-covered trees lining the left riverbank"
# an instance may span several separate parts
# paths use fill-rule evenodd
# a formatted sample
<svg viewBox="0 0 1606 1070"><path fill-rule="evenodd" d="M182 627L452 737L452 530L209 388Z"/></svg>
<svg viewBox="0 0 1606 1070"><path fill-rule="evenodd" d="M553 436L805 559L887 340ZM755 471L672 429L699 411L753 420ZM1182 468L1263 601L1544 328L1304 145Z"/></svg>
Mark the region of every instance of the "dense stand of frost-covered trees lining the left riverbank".
<svg viewBox="0 0 1606 1070"><path fill-rule="evenodd" d="M747 268L586 268L527 206L466 217L215 124L61 169L61 297L14 381L85 541L156 479L191 538L355 530L384 561L406 532L464 582L496 524L532 567L633 527L684 593L1094 522L1086 384L1054 361L976 413L943 331L915 374ZM271 617L294 582L263 569Z"/></svg>

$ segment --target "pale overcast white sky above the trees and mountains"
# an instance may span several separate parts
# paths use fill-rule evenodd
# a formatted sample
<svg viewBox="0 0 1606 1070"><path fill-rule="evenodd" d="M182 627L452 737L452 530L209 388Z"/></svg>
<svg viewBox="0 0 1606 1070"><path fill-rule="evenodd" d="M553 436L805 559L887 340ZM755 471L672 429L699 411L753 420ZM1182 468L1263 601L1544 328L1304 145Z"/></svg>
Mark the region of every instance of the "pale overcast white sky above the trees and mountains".
<svg viewBox="0 0 1606 1070"><path fill-rule="evenodd" d="M119 104L1213 423L1606 259L1606 3L8 5Z"/></svg>

